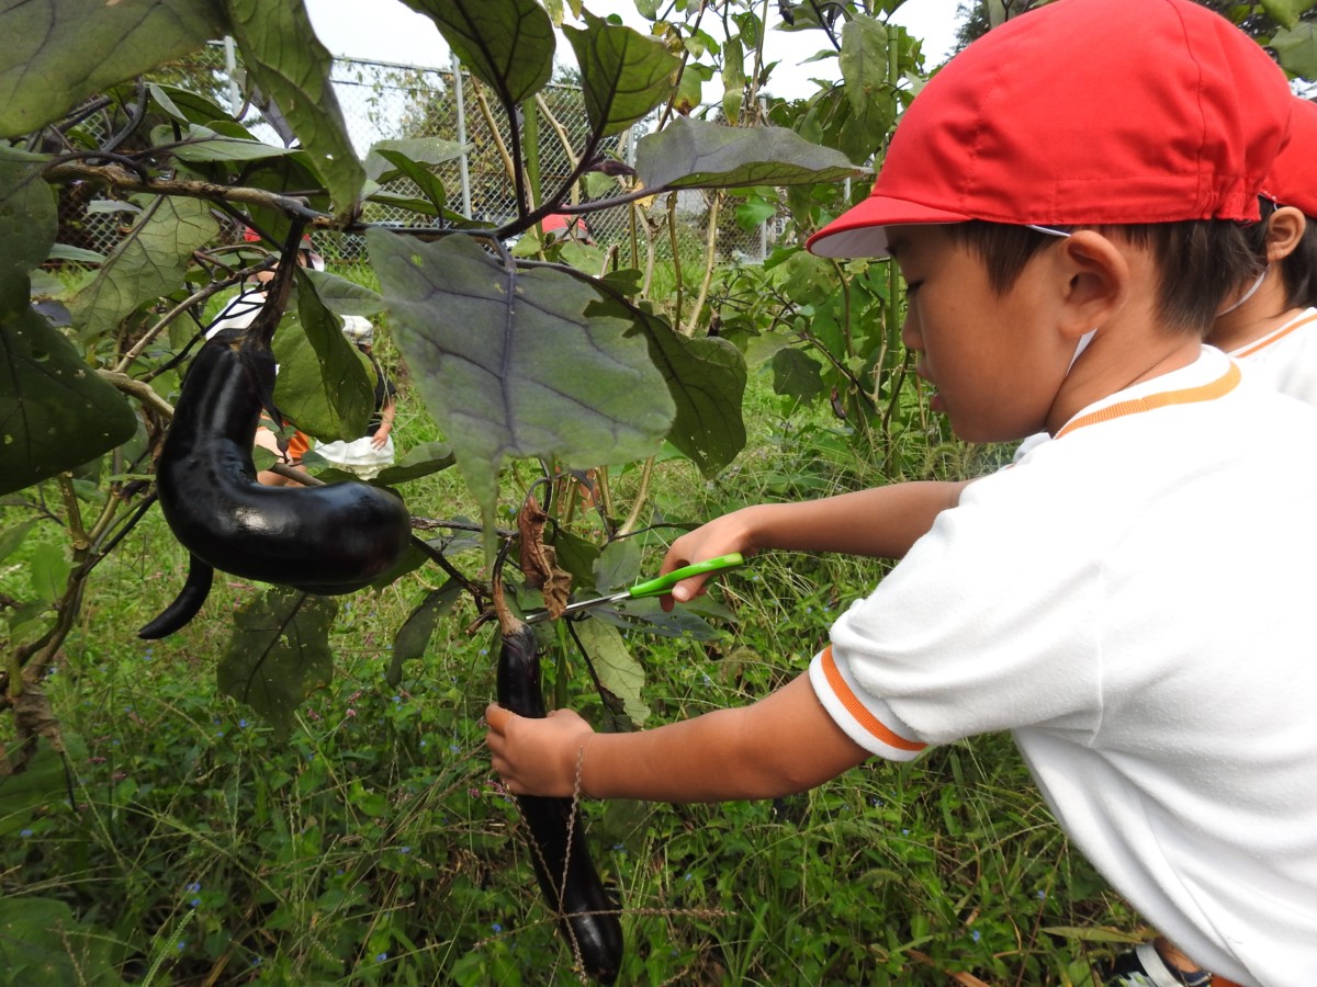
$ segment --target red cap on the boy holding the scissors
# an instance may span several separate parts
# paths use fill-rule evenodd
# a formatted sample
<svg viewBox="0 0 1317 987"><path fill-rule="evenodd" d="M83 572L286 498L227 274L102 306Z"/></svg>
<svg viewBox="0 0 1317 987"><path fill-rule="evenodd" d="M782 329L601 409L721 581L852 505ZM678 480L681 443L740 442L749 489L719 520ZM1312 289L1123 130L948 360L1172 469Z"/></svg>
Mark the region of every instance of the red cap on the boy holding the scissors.
<svg viewBox="0 0 1317 987"><path fill-rule="evenodd" d="M1191 0L1059 0L951 59L869 199L806 246L881 257L906 222L1256 220L1292 103L1262 47Z"/></svg>

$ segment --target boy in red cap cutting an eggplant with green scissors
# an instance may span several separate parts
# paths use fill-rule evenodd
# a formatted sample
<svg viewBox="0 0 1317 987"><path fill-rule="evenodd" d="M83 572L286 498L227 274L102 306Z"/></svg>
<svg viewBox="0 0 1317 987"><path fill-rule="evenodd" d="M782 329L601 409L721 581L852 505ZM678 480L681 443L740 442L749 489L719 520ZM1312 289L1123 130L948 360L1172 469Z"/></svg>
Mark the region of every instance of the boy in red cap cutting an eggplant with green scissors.
<svg viewBox="0 0 1317 987"><path fill-rule="evenodd" d="M1255 270L1233 224L1258 220L1291 101L1184 0L1060 0L957 55L810 249L892 251L903 340L957 434L1052 438L964 488L809 674L751 707L594 734L491 705L508 787L770 797L1009 729L1060 825L1187 959L1303 982L1317 412L1201 346ZM1218 534L1237 503L1267 511ZM852 516L844 550L867 550ZM703 557L687 538L665 570Z"/></svg>

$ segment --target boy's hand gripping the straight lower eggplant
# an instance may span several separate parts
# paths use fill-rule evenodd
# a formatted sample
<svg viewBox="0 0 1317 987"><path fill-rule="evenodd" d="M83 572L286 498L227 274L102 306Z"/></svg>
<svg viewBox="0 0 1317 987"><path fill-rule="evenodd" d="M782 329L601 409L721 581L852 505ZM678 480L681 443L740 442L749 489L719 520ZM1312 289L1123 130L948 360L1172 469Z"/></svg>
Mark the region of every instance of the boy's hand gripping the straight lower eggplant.
<svg viewBox="0 0 1317 987"><path fill-rule="evenodd" d="M579 750L594 733L577 713L554 709L543 720L532 720L490 703L485 721L490 728L485 744L508 791L558 797L576 794Z"/></svg>

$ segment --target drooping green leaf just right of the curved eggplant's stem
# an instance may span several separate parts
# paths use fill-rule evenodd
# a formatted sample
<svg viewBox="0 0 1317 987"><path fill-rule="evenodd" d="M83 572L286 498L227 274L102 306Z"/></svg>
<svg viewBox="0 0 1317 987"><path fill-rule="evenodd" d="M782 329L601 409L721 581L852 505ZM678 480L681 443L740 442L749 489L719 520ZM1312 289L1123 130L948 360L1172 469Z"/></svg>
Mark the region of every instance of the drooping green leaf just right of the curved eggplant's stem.
<svg viewBox="0 0 1317 987"><path fill-rule="evenodd" d="M374 382L342 334L342 322L300 270L298 318L279 325L274 355L279 362L274 401L299 429L325 441L350 442L366 433L375 408Z"/></svg>

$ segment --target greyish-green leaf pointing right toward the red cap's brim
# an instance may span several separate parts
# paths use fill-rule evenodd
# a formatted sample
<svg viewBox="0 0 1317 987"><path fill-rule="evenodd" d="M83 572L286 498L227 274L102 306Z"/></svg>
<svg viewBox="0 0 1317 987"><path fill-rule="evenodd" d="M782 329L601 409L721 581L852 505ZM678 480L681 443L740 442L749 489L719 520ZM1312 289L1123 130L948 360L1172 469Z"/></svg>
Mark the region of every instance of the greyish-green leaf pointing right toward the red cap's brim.
<svg viewBox="0 0 1317 987"><path fill-rule="evenodd" d="M636 143L647 188L736 188L840 182L864 174L840 151L780 126L735 128L678 117Z"/></svg>

